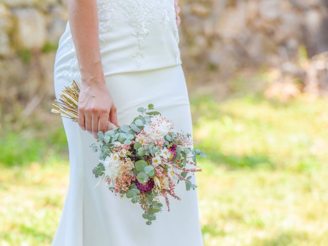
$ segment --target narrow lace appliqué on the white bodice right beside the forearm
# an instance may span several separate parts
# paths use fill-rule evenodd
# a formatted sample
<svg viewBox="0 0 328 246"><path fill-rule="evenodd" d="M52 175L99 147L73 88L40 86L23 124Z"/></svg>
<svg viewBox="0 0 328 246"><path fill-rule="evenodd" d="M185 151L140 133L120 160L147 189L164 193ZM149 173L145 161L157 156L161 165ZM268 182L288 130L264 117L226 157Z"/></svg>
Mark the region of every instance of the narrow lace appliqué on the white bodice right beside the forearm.
<svg viewBox="0 0 328 246"><path fill-rule="evenodd" d="M97 0L98 20L99 20L99 40L104 43L104 35L112 31L117 19L115 11L117 7L115 0Z"/></svg>

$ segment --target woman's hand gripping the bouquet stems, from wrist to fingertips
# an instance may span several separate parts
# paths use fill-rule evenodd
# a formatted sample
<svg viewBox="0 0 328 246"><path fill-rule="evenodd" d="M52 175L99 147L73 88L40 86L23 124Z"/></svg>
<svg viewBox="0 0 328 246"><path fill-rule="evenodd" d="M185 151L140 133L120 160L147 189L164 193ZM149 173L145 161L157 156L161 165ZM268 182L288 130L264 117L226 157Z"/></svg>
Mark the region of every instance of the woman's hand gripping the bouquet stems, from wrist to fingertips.
<svg viewBox="0 0 328 246"><path fill-rule="evenodd" d="M119 126L116 107L105 81L82 86L78 97L78 125L95 138L99 131L105 133Z"/></svg>

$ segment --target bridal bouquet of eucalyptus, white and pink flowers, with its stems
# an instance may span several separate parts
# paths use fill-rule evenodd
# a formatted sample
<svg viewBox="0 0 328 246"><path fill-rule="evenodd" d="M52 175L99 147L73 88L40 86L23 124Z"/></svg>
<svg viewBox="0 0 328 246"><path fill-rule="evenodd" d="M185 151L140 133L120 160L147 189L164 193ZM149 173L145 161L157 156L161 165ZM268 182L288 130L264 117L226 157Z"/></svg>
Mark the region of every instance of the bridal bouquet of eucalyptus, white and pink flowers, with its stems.
<svg viewBox="0 0 328 246"><path fill-rule="evenodd" d="M52 112L77 119L79 86L66 87L60 99L53 104ZM196 156L206 157L204 151L192 149L194 144L189 133L174 132L174 124L154 111L154 105L137 109L130 125L98 132L97 144L91 145L99 152L99 163L93 174L120 197L139 203L142 217L151 224L162 211L163 197L170 211L168 196L180 200L175 189L184 182L186 190L197 188L191 182L192 175L201 171Z"/></svg>

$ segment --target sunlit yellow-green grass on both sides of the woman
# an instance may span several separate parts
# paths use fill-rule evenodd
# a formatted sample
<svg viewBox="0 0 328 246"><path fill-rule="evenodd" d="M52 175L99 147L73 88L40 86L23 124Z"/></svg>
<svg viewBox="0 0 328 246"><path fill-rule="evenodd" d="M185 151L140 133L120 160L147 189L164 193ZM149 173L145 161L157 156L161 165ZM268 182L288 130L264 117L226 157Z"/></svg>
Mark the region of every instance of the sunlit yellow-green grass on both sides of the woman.
<svg viewBox="0 0 328 246"><path fill-rule="evenodd" d="M208 155L197 174L206 246L328 245L327 103L192 99L194 138ZM25 135L16 150L23 135L0 140L0 246L49 245L67 191L63 129Z"/></svg>

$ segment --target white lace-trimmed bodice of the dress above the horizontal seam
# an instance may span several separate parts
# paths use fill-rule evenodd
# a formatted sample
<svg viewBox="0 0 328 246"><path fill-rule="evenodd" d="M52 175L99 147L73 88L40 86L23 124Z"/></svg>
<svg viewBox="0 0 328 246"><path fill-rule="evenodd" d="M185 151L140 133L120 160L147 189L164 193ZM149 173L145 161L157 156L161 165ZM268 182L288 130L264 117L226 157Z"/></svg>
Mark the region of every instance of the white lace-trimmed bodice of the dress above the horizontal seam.
<svg viewBox="0 0 328 246"><path fill-rule="evenodd" d="M97 7L105 75L181 64L174 0L97 0ZM71 53L64 75L70 81L79 79L69 25L58 56L61 46Z"/></svg>

